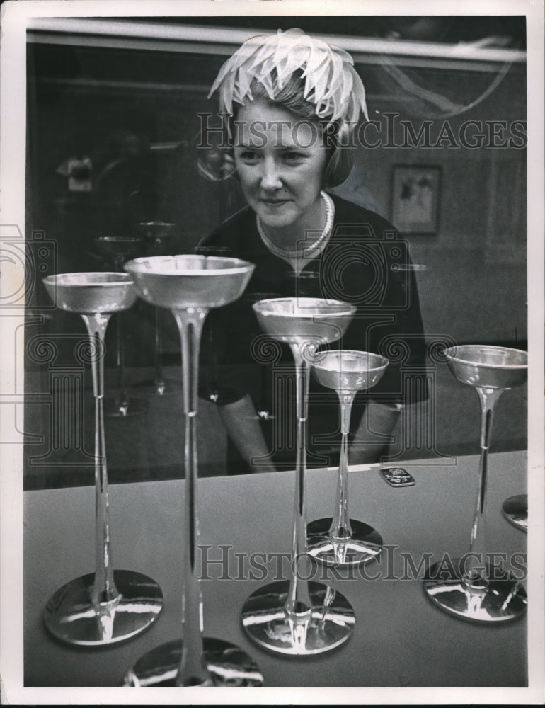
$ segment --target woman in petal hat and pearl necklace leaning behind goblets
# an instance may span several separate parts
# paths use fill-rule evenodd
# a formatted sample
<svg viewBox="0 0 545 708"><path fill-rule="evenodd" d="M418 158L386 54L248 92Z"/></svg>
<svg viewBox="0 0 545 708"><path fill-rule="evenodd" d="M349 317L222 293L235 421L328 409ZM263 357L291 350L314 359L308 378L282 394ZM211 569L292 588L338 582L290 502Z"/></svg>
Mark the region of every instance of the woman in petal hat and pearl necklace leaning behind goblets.
<svg viewBox="0 0 545 708"><path fill-rule="evenodd" d="M244 297L207 321L214 347L203 356L219 358L220 379L235 392L218 401L230 438L229 472L294 467L293 358L287 347L260 346L251 304L265 297L345 300L357 313L332 348L388 356L401 347L403 361L391 362L352 408L350 462L374 462L401 407L422 397L418 386L407 385L406 372L423 369L424 345L415 280L394 227L327 192L352 166L354 130L360 115L367 118L362 81L343 50L302 30L279 30L245 42L220 70L214 91L220 113L229 115L229 144L219 170L205 173L238 179L248 206L201 245L256 264ZM335 464L338 400L314 380L308 429L309 466Z"/></svg>

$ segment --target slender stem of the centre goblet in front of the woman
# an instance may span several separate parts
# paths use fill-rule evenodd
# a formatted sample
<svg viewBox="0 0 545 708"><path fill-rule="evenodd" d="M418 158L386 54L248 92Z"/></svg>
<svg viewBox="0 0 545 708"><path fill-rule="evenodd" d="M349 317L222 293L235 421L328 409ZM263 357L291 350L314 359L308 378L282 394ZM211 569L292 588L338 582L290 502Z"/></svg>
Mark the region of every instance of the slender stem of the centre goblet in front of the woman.
<svg viewBox="0 0 545 708"><path fill-rule="evenodd" d="M299 563L308 563L306 554L306 418L309 394L309 365L302 357L299 345L292 344L296 376L297 405L297 452L295 458L295 506L293 525L293 559L296 570L289 581L289 591L285 603L285 612L298 627L307 624L311 619L312 603L309 595L308 582L303 578L306 573L299 573ZM293 631L293 630L292 630ZM297 632L294 632L294 639ZM304 637L302 639L304 644Z"/></svg>

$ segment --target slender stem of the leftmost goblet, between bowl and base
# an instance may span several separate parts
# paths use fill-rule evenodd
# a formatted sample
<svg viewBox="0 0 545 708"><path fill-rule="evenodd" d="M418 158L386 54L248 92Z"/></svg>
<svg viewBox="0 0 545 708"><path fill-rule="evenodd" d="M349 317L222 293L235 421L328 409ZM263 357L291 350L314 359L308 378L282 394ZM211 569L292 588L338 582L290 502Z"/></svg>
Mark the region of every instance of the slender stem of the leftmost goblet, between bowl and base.
<svg viewBox="0 0 545 708"><path fill-rule="evenodd" d="M109 314L82 314L91 344L91 372L95 401L95 578L91 602L95 607L114 605L119 593L113 580L110 551L110 522L108 518L108 472L104 435L104 340Z"/></svg>

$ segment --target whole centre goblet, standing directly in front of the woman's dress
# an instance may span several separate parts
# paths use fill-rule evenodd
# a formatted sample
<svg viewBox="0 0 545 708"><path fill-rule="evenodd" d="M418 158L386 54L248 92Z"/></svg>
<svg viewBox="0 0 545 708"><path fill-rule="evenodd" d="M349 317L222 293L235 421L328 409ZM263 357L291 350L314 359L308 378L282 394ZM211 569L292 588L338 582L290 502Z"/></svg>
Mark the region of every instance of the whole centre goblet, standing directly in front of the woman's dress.
<svg viewBox="0 0 545 708"><path fill-rule="evenodd" d="M337 300L311 297L262 300L253 305L258 321L272 338L292 349L297 404L297 457L292 569L289 582L258 588L244 603L242 624L259 646L290 656L309 656L343 644L354 627L348 600L331 587L309 582L306 553L306 413L308 358L324 343L337 341L350 324L355 307Z"/></svg>

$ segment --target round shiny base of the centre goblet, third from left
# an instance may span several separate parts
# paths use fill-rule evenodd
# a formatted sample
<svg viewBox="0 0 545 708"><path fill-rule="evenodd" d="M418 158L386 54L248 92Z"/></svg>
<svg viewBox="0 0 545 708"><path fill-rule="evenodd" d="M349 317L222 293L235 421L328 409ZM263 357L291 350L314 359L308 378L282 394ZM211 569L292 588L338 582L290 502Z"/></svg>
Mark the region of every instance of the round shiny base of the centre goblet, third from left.
<svg viewBox="0 0 545 708"><path fill-rule="evenodd" d="M314 656L336 649L348 640L354 629L352 605L337 590L322 583L309 582L311 619L294 629L285 603L289 582L279 581L259 588L242 608L246 633L261 649L286 656Z"/></svg>

